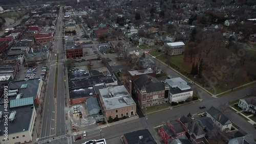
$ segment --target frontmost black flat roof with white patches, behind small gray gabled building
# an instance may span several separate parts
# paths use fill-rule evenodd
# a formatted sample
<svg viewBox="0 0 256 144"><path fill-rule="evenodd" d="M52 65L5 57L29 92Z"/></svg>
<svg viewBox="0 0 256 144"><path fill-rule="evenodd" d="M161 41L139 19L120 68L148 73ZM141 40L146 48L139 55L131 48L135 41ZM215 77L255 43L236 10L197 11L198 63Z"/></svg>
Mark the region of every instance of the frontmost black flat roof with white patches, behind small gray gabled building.
<svg viewBox="0 0 256 144"><path fill-rule="evenodd" d="M86 97L92 97L93 95L96 95L93 87L69 90L69 99L86 98Z"/></svg>

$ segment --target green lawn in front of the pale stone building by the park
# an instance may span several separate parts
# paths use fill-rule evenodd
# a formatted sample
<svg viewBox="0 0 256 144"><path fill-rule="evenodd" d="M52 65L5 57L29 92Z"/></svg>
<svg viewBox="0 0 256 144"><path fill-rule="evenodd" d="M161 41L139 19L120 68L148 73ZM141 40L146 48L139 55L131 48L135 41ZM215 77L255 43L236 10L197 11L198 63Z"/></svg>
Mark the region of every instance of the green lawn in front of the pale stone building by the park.
<svg viewBox="0 0 256 144"><path fill-rule="evenodd" d="M169 55L161 55L157 57L158 60L166 63L168 59L170 59L170 63L173 63L174 65L182 68L183 70L187 71L187 73L190 73L191 71L191 63L186 63L183 60L184 55L179 56L169 56Z"/></svg>

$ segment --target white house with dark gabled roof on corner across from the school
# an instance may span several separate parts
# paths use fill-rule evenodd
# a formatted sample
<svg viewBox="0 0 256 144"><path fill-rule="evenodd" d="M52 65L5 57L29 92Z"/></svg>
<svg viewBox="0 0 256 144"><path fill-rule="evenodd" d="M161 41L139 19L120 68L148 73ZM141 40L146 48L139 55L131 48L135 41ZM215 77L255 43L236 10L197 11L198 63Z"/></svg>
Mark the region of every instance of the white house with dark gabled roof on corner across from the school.
<svg viewBox="0 0 256 144"><path fill-rule="evenodd" d="M226 117L222 112L220 112L215 107L211 107L207 112L206 116L210 117L214 122L215 126L217 126L221 132L229 132L232 127L232 122L229 118Z"/></svg>

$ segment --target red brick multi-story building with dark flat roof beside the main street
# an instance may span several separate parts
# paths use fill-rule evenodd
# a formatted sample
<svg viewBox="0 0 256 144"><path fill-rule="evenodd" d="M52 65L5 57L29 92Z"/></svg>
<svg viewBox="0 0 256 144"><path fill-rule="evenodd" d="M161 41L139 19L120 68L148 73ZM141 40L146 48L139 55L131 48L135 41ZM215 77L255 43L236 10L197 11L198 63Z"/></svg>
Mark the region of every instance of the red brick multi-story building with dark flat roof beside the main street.
<svg viewBox="0 0 256 144"><path fill-rule="evenodd" d="M66 49L67 59L83 57L82 45L75 44L73 46L66 46L65 49Z"/></svg>

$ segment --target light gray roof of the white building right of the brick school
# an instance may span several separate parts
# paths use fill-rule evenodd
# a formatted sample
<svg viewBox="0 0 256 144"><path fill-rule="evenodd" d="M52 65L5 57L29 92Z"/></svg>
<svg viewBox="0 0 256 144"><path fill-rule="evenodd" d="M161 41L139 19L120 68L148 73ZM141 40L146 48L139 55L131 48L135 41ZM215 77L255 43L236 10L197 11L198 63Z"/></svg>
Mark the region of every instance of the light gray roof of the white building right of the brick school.
<svg viewBox="0 0 256 144"><path fill-rule="evenodd" d="M180 90L188 90L191 88L189 85L187 85L187 82L185 82L180 77L166 79L165 82L167 82L170 87L172 88L178 87Z"/></svg>

